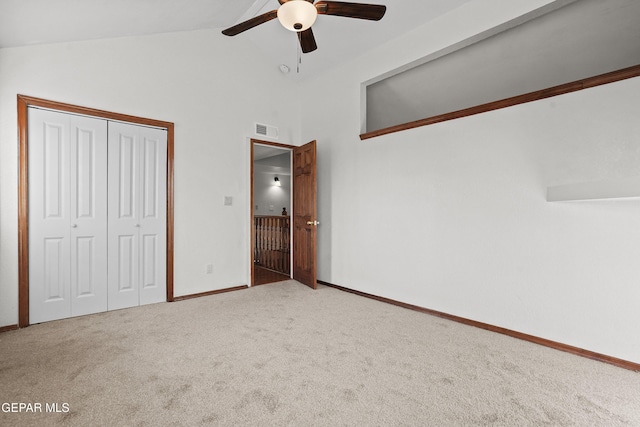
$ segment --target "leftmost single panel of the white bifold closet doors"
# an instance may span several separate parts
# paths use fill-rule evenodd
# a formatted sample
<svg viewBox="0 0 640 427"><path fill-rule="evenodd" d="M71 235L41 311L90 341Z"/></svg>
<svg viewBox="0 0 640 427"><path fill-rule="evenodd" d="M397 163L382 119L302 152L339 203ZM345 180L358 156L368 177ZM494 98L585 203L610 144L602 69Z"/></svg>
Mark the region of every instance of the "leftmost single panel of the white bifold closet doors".
<svg viewBox="0 0 640 427"><path fill-rule="evenodd" d="M71 315L69 117L29 110L29 314Z"/></svg>

